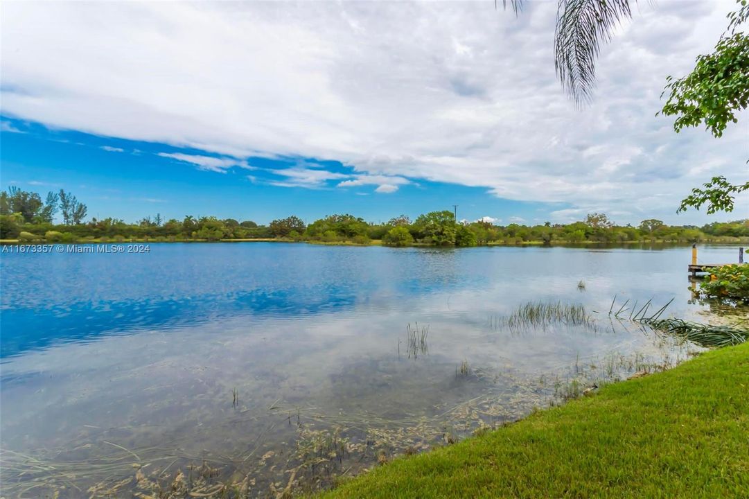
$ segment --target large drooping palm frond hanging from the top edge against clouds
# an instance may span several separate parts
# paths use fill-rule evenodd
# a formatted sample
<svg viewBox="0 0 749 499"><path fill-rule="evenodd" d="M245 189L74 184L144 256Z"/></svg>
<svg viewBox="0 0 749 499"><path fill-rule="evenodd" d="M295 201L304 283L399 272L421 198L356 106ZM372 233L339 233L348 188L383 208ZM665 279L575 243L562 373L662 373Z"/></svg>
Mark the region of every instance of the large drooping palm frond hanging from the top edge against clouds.
<svg viewBox="0 0 749 499"><path fill-rule="evenodd" d="M630 0L560 0L554 64L562 88L578 105L592 96L601 43L607 43L613 28L631 16Z"/></svg>

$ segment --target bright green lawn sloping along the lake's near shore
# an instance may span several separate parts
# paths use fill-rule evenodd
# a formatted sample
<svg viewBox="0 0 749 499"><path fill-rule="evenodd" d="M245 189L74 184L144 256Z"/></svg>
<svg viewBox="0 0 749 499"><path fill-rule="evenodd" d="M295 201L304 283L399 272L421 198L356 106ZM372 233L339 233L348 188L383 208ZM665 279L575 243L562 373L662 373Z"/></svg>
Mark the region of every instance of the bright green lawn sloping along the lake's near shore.
<svg viewBox="0 0 749 499"><path fill-rule="evenodd" d="M603 387L322 498L739 498L749 491L749 344Z"/></svg>

